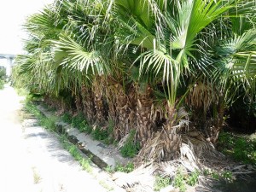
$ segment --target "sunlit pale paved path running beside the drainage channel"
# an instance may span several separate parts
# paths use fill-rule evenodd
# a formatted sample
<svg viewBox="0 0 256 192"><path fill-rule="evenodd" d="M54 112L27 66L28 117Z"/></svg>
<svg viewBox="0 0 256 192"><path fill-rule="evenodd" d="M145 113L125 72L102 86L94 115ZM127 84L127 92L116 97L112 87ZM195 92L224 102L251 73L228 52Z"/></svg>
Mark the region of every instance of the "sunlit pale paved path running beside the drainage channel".
<svg viewBox="0 0 256 192"><path fill-rule="evenodd" d="M0 90L1 192L107 191L61 147L55 134L26 122L21 125L20 97Z"/></svg>

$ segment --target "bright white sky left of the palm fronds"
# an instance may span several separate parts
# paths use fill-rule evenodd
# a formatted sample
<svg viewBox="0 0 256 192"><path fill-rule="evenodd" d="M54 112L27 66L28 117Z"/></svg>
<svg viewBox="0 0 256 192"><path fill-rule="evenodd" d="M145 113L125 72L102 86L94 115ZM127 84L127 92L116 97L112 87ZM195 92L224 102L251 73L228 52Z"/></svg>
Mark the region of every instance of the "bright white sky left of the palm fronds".
<svg viewBox="0 0 256 192"><path fill-rule="evenodd" d="M54 0L0 0L0 54L21 54L26 33L22 24Z"/></svg>

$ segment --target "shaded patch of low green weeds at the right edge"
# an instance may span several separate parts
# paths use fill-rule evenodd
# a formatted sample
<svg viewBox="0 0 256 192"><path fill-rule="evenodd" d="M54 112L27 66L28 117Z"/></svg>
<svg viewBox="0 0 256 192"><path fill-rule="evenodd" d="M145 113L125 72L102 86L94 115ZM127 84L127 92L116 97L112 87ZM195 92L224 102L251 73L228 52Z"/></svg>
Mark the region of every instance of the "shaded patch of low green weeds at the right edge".
<svg viewBox="0 0 256 192"><path fill-rule="evenodd" d="M222 132L218 139L218 149L234 160L256 166L256 139Z"/></svg>

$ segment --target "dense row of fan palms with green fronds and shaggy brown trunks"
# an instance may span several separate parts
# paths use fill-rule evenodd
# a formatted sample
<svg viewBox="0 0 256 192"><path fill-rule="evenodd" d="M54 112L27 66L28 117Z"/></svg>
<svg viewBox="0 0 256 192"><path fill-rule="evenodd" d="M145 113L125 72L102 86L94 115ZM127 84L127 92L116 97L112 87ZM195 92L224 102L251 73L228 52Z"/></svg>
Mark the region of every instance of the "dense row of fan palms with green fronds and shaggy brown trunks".
<svg viewBox="0 0 256 192"><path fill-rule="evenodd" d="M247 0L56 0L26 21L13 77L92 124L112 120L117 141L136 129L142 148L157 145L154 157L170 160L182 133L215 143L236 98L255 101L255 9Z"/></svg>

